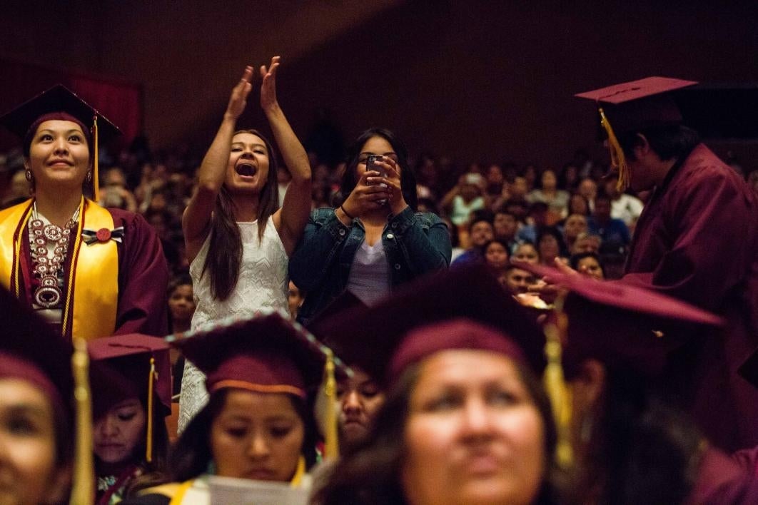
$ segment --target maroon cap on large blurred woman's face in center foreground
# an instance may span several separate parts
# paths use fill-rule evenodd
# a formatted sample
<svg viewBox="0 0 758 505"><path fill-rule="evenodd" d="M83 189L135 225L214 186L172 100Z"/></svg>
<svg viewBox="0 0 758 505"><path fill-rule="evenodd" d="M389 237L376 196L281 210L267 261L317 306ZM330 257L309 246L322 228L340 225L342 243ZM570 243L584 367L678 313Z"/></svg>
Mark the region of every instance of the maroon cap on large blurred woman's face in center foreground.
<svg viewBox="0 0 758 505"><path fill-rule="evenodd" d="M409 364L450 348L518 348L506 354L520 356L537 375L545 366L544 338L534 317L481 265L410 282L374 307L324 321L318 332L343 360L384 387Z"/></svg>

